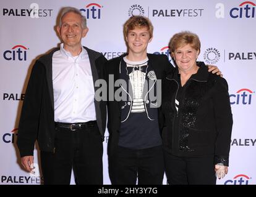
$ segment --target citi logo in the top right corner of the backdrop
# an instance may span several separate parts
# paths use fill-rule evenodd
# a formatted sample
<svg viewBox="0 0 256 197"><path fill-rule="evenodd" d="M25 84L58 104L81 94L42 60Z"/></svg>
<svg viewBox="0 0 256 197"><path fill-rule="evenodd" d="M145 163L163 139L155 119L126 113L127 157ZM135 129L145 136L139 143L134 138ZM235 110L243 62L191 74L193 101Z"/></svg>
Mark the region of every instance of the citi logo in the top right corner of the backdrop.
<svg viewBox="0 0 256 197"><path fill-rule="evenodd" d="M256 4L251 1L242 2L239 7L234 7L230 10L231 18L255 18Z"/></svg>

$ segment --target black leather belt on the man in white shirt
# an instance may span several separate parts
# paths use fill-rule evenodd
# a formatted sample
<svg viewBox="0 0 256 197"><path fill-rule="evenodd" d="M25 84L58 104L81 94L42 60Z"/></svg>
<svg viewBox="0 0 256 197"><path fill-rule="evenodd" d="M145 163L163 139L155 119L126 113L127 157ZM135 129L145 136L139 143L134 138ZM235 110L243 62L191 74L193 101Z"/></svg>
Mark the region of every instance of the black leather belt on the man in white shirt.
<svg viewBox="0 0 256 197"><path fill-rule="evenodd" d="M69 129L70 131L77 131L77 130L83 129L83 128L94 127L96 124L97 124L96 121L88 121L86 123L59 123L59 122L56 122L55 126L61 127L61 128L66 128L66 129Z"/></svg>

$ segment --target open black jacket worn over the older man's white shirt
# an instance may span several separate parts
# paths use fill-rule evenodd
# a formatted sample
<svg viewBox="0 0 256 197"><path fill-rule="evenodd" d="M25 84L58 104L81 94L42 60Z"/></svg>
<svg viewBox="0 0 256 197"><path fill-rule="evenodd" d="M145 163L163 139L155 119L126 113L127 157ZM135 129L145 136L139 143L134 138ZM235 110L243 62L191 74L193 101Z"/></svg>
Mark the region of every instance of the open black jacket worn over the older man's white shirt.
<svg viewBox="0 0 256 197"><path fill-rule="evenodd" d="M90 58L93 82L105 76L104 65L106 58L94 50L84 47ZM40 150L53 151L55 125L52 59L59 48L53 49L49 54L36 60L28 81L22 113L19 123L17 145L20 156L33 155L35 141L38 140ZM98 87L95 87L95 91ZM104 140L106 129L106 102L95 100L96 121Z"/></svg>

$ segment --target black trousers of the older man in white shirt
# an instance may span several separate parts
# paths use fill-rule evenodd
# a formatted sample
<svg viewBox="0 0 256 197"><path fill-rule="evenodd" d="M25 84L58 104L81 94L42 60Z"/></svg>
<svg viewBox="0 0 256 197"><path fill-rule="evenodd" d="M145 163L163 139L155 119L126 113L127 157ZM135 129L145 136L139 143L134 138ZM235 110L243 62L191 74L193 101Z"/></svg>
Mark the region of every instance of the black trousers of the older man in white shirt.
<svg viewBox="0 0 256 197"><path fill-rule="evenodd" d="M70 131L58 128L54 153L41 151L43 178L48 184L103 184L103 144L98 126Z"/></svg>

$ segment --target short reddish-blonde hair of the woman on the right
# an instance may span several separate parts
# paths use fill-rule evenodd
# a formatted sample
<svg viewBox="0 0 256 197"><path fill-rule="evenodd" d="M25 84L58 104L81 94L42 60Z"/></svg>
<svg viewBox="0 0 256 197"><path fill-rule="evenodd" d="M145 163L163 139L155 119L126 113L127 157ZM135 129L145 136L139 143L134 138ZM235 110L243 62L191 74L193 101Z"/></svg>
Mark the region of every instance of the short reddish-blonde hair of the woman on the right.
<svg viewBox="0 0 256 197"><path fill-rule="evenodd" d="M201 42L197 36L197 34L192 33L190 31L181 31L180 33L174 34L174 36L169 41L168 47L171 52L171 56L173 57L173 52L179 47L186 46L190 44L190 46L198 50L200 54Z"/></svg>

